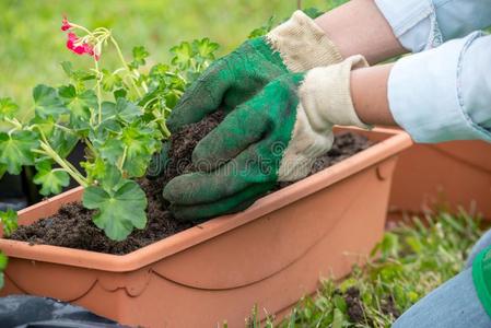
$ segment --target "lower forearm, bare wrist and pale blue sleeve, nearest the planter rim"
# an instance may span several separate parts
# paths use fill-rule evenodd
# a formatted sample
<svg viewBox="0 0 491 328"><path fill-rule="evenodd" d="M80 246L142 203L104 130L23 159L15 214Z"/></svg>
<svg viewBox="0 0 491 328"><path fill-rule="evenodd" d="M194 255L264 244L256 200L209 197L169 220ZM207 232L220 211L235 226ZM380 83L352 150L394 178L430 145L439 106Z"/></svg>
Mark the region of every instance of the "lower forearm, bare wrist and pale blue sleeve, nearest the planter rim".
<svg viewBox="0 0 491 328"><path fill-rule="evenodd" d="M367 125L399 125L417 142L491 141L491 36L476 33L351 72L351 97Z"/></svg>

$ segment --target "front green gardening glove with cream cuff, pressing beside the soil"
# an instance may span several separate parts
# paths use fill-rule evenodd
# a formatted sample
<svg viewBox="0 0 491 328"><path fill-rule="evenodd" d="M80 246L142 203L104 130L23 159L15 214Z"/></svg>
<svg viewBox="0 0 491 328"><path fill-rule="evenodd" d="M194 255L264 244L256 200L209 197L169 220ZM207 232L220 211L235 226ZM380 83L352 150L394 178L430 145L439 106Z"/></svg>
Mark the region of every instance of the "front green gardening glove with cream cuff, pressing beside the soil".
<svg viewBox="0 0 491 328"><path fill-rule="evenodd" d="M287 73L241 104L196 147L199 173L164 188L179 220L236 212L277 181L305 177L332 144L332 126L363 124L353 108L350 73L367 66L362 56L307 73Z"/></svg>

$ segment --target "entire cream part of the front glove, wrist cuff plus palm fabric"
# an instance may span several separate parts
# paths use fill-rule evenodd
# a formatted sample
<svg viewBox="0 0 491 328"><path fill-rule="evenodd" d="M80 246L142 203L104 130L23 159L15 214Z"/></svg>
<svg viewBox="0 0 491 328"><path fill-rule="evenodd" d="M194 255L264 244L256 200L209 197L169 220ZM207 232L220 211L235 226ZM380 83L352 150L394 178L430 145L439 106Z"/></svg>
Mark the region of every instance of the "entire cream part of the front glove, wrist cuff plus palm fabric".
<svg viewBox="0 0 491 328"><path fill-rule="evenodd" d="M351 70L366 66L363 56L353 56L305 74L295 126L278 171L280 181L295 181L311 172L315 160L332 147L334 125L370 129L358 117L350 92Z"/></svg>

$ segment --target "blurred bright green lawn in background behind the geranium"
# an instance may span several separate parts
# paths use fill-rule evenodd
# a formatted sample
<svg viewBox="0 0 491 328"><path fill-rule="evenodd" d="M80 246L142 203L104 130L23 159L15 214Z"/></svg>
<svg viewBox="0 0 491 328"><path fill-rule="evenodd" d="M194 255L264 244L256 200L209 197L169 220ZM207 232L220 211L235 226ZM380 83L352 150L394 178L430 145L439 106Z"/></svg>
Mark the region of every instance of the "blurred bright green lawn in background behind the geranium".
<svg viewBox="0 0 491 328"><path fill-rule="evenodd" d="M338 2L305 0L303 7L326 10ZM75 58L65 48L66 35L60 31L63 13L91 28L112 28L127 55L135 45L144 45L151 60L165 61L171 46L206 36L222 46L223 55L271 15L281 21L295 9L296 0L2 0L0 97L13 97L26 107L35 84L63 81L59 62L91 65L90 58ZM115 61L110 57L102 60L104 66Z"/></svg>

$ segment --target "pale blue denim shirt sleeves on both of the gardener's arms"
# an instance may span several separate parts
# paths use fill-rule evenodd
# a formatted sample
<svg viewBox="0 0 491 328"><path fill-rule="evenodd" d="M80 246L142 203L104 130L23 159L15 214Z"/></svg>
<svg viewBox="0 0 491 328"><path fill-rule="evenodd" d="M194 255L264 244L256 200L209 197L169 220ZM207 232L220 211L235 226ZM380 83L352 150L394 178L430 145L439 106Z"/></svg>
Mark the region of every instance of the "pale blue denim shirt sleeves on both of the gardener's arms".
<svg viewBox="0 0 491 328"><path fill-rule="evenodd" d="M491 0L375 2L406 48L428 50L390 73L396 122L417 142L491 141L491 36L466 36L491 25Z"/></svg>

